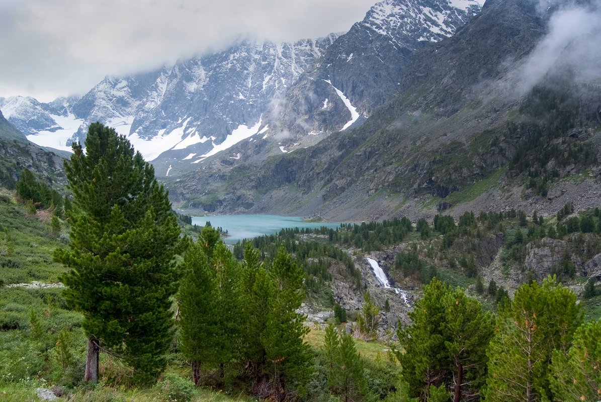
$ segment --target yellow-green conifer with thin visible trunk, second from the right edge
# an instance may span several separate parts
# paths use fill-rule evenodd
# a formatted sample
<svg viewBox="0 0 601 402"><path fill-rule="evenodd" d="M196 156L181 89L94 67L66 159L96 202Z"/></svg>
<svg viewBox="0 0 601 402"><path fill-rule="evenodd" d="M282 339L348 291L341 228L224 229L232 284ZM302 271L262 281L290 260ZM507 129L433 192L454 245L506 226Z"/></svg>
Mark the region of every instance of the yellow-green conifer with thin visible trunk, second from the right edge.
<svg viewBox="0 0 601 402"><path fill-rule="evenodd" d="M554 349L567 353L582 322L576 294L547 278L519 287L502 303L490 342L487 401L540 401L551 398L549 363Z"/></svg>

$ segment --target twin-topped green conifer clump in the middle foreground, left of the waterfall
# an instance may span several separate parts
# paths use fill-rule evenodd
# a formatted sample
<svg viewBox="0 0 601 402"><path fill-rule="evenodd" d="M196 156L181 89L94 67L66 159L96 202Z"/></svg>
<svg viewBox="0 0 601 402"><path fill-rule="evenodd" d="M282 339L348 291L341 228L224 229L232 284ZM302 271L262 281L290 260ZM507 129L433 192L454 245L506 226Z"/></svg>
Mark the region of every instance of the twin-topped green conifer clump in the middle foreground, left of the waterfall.
<svg viewBox="0 0 601 402"><path fill-rule="evenodd" d="M258 252L247 243L243 355L255 389L269 390L264 397L301 389L311 375L310 349L303 341L309 329L305 316L297 312L304 276L283 247L273 260L261 264Z"/></svg>

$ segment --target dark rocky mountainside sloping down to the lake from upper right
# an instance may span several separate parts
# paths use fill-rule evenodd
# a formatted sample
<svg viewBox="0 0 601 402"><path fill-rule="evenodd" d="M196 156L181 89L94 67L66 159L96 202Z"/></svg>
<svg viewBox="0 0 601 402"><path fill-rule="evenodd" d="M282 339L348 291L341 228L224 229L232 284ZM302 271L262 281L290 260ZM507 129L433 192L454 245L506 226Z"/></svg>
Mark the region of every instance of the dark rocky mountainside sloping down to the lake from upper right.
<svg viewBox="0 0 601 402"><path fill-rule="evenodd" d="M501 13L504 17L497 18ZM182 177L183 186L206 183L205 193L186 195L181 184L170 182L173 196L201 209L212 199L210 209L218 213L283 212L334 221L432 217L448 208L459 214L465 208L461 204L474 210L538 208L548 215L575 193L580 195L575 206L594 206L597 157L570 156L589 145L599 154L594 87L554 84L550 77L528 97L504 94L511 85L509 73L547 34L548 17L531 1L492 1L454 37L416 55L401 91L359 129L262 166L239 166L229 175ZM478 52L466 57L465 49L485 48L495 40L501 43L489 50L497 52L494 60L513 63L482 62ZM563 115L566 125L556 127L555 118ZM570 117L578 115L579 120ZM522 155L529 148L532 152ZM549 155L546 164L537 153ZM531 168L515 167L524 160ZM593 169L590 177L584 177L587 169Z"/></svg>

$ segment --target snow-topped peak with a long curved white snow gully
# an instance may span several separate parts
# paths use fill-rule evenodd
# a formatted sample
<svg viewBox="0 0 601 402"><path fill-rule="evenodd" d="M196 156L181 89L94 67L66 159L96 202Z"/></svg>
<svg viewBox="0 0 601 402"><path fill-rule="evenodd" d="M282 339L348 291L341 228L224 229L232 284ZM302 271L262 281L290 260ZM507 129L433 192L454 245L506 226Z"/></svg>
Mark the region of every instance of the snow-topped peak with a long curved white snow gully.
<svg viewBox="0 0 601 402"><path fill-rule="evenodd" d="M412 54L449 37L484 0L384 0L326 50L272 110L275 135L344 130L398 91Z"/></svg>

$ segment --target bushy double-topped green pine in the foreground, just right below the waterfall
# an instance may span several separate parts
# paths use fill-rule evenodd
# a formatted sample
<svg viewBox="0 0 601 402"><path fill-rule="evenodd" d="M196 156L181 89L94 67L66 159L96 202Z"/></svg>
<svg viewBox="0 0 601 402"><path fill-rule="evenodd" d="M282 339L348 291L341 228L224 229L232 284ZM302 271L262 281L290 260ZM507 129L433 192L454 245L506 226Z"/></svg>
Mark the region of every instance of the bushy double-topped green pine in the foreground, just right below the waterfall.
<svg viewBox="0 0 601 402"><path fill-rule="evenodd" d="M478 300L435 278L409 317L413 324L397 330L404 349L397 357L409 395L429 400L434 387L453 390L455 402L465 394L477 395L486 378L486 348L493 334L490 313Z"/></svg>

